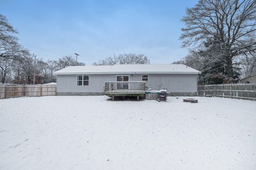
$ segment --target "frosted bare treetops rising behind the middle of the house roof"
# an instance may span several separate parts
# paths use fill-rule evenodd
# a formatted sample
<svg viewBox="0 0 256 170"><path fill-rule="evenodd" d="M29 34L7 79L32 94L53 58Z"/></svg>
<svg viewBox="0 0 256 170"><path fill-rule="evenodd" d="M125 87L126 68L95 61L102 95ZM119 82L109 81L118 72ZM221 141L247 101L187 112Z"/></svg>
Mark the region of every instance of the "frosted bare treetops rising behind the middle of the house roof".
<svg viewBox="0 0 256 170"><path fill-rule="evenodd" d="M114 65L114 64L149 64L147 56L143 54L119 54L116 56L107 57L105 60L100 60L98 63L93 63L92 65Z"/></svg>

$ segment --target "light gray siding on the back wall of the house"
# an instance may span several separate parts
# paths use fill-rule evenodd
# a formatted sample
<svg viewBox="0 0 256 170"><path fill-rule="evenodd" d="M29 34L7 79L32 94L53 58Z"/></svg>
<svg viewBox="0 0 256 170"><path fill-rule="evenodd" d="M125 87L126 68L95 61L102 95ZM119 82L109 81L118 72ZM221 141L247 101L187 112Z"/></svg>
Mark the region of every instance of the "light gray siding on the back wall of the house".
<svg viewBox="0 0 256 170"><path fill-rule="evenodd" d="M76 86L76 75L57 75L57 92L103 92L105 81L116 81L116 75L121 74L91 74L89 86ZM129 75L129 81L141 81L141 74L122 75ZM148 74L146 84L152 90L197 92L196 77L196 74Z"/></svg>

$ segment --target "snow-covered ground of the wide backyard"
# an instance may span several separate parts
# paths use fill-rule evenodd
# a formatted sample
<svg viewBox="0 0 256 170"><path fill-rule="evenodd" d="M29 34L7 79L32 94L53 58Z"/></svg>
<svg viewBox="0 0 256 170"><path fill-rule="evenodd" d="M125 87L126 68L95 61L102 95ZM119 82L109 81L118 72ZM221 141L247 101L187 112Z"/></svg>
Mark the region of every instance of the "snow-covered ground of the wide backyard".
<svg viewBox="0 0 256 170"><path fill-rule="evenodd" d="M0 100L0 169L256 169L256 101Z"/></svg>

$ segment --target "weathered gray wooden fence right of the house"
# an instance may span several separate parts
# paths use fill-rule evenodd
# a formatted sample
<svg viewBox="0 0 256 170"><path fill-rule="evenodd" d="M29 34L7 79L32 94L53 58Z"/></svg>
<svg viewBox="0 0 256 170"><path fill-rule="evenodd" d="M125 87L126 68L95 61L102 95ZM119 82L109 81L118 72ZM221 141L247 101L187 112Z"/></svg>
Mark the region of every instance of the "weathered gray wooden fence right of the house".
<svg viewBox="0 0 256 170"><path fill-rule="evenodd" d="M198 86L197 95L256 100L256 84L217 84Z"/></svg>

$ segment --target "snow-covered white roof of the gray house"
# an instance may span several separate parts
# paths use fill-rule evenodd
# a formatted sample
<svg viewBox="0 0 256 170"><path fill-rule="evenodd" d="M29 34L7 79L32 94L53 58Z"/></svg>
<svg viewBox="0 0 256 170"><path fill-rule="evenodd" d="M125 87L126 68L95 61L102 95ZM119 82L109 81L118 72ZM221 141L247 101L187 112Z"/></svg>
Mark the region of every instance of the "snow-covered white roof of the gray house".
<svg viewBox="0 0 256 170"><path fill-rule="evenodd" d="M201 73L183 64L117 64L117 65L89 65L69 66L53 74L198 74Z"/></svg>

